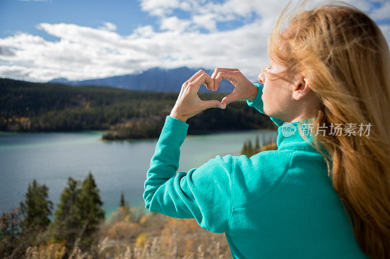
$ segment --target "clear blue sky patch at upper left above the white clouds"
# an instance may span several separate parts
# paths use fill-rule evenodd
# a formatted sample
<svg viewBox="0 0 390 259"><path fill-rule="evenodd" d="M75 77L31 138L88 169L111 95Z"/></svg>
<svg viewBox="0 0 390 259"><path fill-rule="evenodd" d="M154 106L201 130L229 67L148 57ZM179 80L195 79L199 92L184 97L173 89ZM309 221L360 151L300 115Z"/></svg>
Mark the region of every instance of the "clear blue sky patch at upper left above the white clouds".
<svg viewBox="0 0 390 259"><path fill-rule="evenodd" d="M0 0L1 37L22 31L55 40L56 38L36 29L35 26L41 22L63 22L98 28L103 21L116 24L117 33L120 35L129 35L138 26L148 24L158 29L157 17L141 11L138 1Z"/></svg>

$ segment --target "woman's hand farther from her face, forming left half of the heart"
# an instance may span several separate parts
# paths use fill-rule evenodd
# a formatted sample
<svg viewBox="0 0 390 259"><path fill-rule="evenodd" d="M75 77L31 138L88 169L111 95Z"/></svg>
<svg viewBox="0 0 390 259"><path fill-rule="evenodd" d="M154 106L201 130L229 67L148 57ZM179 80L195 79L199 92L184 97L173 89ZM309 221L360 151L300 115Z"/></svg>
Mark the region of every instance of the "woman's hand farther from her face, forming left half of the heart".
<svg viewBox="0 0 390 259"><path fill-rule="evenodd" d="M210 90L214 90L215 88L214 80L205 71L199 70L181 86L179 97L177 98L170 116L186 122L189 118L208 108L218 107L224 109L226 105L224 106L217 100L200 100L197 92L203 84Z"/></svg>

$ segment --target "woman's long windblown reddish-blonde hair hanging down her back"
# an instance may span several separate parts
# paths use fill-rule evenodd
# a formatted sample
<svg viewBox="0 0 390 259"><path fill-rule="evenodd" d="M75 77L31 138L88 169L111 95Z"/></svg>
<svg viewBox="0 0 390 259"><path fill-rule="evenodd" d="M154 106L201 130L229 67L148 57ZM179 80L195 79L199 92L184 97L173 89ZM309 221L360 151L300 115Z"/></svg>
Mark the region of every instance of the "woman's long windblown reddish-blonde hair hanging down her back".
<svg viewBox="0 0 390 259"><path fill-rule="evenodd" d="M301 74L318 98L313 146L328 165L328 175L347 212L362 251L371 258L390 255L390 53L375 22L359 9L338 2L290 19L292 33L280 27L289 4L269 37L270 58ZM331 125L369 125L359 136L330 134ZM344 133L344 132L343 132ZM347 135L347 136L343 136ZM325 148L328 154L324 154Z"/></svg>

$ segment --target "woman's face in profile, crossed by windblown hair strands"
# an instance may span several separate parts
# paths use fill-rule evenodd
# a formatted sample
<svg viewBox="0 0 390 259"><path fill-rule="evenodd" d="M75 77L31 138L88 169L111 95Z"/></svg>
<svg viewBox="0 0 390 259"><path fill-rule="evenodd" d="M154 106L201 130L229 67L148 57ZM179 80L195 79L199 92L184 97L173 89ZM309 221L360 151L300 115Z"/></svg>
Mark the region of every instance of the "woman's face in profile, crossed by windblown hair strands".
<svg viewBox="0 0 390 259"><path fill-rule="evenodd" d="M263 112L271 117L286 121L290 117L292 108L292 82L288 82L282 78L277 78L273 74L280 73L286 67L271 61L271 64L265 69L271 79L266 76L264 71L258 76L258 80L262 83L263 94ZM276 79L277 78L277 79ZM276 80L275 80L276 79Z"/></svg>

